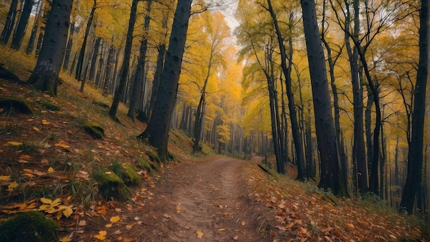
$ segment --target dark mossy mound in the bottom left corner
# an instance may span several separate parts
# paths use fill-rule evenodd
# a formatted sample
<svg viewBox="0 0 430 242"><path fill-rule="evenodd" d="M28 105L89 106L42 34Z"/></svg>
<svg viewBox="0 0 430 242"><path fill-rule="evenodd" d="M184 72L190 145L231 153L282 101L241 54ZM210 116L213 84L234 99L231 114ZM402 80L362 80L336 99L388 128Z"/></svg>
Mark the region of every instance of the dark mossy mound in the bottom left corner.
<svg viewBox="0 0 430 242"><path fill-rule="evenodd" d="M38 211L22 212L0 224L0 241L57 241L60 225Z"/></svg>

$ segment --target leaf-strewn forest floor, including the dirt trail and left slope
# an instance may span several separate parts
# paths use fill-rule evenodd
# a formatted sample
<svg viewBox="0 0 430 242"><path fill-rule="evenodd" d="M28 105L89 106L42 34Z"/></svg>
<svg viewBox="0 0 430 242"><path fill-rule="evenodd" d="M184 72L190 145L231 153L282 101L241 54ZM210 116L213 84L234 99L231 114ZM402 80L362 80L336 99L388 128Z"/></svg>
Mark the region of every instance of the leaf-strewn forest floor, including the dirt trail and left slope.
<svg viewBox="0 0 430 242"><path fill-rule="evenodd" d="M23 79L29 68L13 66ZM34 111L0 107L0 225L38 210L60 224L60 241L425 241L420 219L375 197L335 197L265 173L259 157L196 157L180 131L170 133L175 161L149 173L137 160L154 150L135 139L145 124L128 119L122 104L122 124L113 122L100 106L111 97L90 86L82 94L80 83L61 77L56 98L0 79L0 97L22 98ZM100 123L105 137L85 133L86 121ZM140 176L137 186L127 184L125 201L98 193L96 175L110 175L115 164Z"/></svg>

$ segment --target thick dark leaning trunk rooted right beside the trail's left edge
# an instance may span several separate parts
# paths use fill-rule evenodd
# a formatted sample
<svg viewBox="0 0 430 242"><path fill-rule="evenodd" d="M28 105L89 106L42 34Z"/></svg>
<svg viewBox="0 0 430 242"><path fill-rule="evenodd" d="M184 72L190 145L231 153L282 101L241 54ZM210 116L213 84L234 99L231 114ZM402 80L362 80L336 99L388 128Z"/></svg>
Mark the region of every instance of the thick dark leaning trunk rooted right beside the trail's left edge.
<svg viewBox="0 0 430 242"><path fill-rule="evenodd" d="M146 130L138 136L139 139L148 137L149 144L158 149L160 159L165 162L169 160L167 149L168 135L172 111L177 100L179 75L181 74L183 52L187 39L191 2L192 0L179 0L177 3L155 107Z"/></svg>

